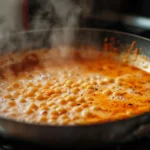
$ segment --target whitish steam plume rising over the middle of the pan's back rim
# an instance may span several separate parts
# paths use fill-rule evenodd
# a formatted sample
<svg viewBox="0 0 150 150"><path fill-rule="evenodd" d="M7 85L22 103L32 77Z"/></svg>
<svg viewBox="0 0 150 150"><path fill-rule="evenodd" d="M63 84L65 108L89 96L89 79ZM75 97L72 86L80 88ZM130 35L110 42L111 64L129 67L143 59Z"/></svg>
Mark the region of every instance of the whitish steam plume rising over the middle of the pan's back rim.
<svg viewBox="0 0 150 150"><path fill-rule="evenodd" d="M79 26L80 6L74 0L47 0L46 2L40 0L39 2L43 8L35 16L33 28L53 28L49 40L54 47L61 43L71 44L75 32L67 28ZM48 19L42 18L45 12ZM63 28L63 30L56 30L56 28Z"/></svg>

